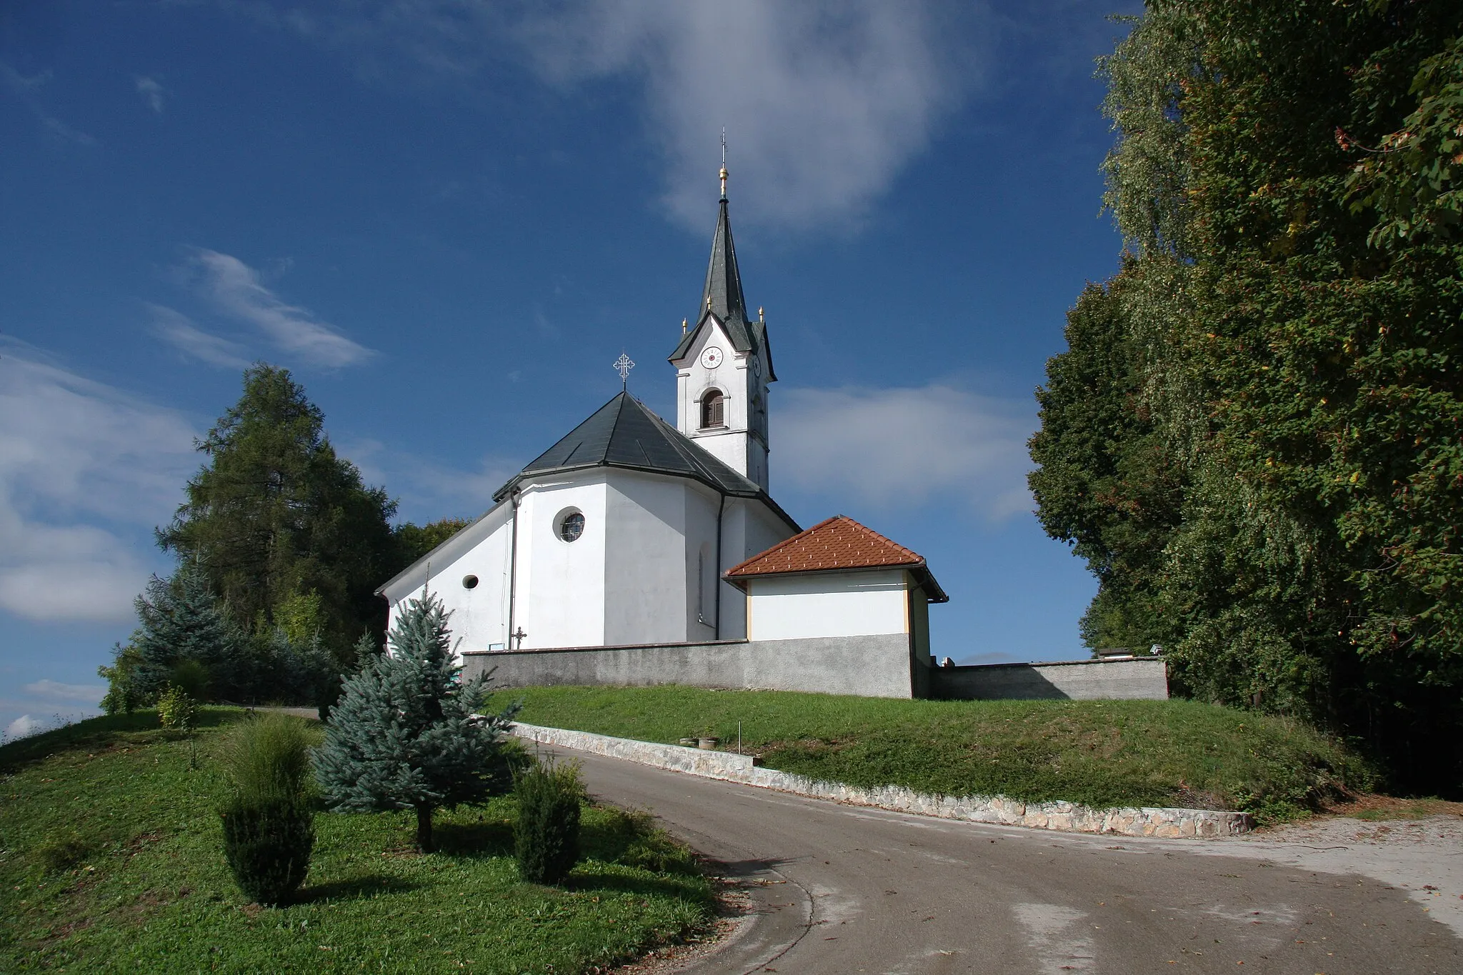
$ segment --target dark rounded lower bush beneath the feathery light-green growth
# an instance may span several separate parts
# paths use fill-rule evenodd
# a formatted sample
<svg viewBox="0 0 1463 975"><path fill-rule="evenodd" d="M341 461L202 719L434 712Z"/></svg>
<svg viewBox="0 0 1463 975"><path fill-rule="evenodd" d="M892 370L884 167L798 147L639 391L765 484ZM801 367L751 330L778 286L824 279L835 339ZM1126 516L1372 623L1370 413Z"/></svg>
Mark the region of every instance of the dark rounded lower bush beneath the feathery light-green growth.
<svg viewBox="0 0 1463 975"><path fill-rule="evenodd" d="M238 889L257 903L284 903L310 871L313 810L304 803L236 801L219 816L224 855Z"/></svg>

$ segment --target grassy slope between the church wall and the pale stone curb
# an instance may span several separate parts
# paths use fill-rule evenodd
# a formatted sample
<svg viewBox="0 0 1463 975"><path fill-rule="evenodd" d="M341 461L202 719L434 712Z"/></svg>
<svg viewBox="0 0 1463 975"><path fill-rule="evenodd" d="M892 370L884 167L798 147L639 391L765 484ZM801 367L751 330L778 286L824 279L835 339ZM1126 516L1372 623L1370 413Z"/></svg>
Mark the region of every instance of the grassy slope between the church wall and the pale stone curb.
<svg viewBox="0 0 1463 975"><path fill-rule="evenodd" d="M711 734L851 785L1296 819L1371 769L1312 728L1185 700L888 700L692 687L528 687L521 721L641 741Z"/></svg>

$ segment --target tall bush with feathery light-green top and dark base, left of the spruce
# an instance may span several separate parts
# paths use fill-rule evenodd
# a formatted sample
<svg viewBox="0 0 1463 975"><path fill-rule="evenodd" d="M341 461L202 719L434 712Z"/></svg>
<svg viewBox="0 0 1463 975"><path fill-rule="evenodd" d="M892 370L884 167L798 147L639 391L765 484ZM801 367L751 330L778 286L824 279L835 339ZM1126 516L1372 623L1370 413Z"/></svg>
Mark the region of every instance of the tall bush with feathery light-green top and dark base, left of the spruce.
<svg viewBox="0 0 1463 975"><path fill-rule="evenodd" d="M300 718L272 712L234 725L218 747L231 791L219 810L224 857L238 889L257 903L282 903L310 870L313 732Z"/></svg>

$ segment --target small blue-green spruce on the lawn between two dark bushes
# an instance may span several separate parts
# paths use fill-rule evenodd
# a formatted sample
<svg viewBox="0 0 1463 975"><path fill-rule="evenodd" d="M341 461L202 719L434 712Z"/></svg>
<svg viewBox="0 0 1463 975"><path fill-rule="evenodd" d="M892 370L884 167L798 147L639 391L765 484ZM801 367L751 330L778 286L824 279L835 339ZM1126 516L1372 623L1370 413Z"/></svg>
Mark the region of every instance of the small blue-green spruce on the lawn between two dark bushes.
<svg viewBox="0 0 1463 975"><path fill-rule="evenodd" d="M433 846L433 810L481 801L509 782L499 735L518 706L475 716L489 678L462 681L452 650L442 602L430 593L410 599L388 652L345 680L315 756L331 808L413 810L423 852Z"/></svg>

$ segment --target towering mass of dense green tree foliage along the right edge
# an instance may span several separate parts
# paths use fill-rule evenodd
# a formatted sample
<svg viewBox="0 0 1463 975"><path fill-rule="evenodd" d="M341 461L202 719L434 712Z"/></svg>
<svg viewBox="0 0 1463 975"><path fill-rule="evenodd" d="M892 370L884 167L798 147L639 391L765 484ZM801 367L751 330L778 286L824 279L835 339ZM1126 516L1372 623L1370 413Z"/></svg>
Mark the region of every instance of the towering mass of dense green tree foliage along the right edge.
<svg viewBox="0 0 1463 975"><path fill-rule="evenodd" d="M1100 67L1129 254L1033 440L1090 640L1159 633L1181 688L1356 735L1403 788L1463 778L1460 32L1454 4L1150 4Z"/></svg>

